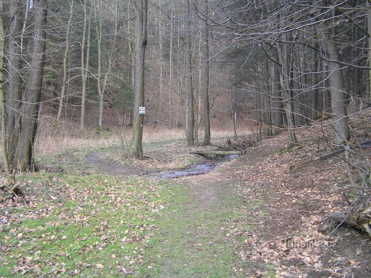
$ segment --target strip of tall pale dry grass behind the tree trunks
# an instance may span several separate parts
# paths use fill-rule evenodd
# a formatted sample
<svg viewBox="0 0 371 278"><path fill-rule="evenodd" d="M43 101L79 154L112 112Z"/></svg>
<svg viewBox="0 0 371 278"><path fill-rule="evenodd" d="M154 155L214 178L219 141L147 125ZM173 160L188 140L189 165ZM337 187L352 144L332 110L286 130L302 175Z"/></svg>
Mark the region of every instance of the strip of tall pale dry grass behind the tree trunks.
<svg viewBox="0 0 371 278"><path fill-rule="evenodd" d="M131 138L131 128L121 129L115 132L103 132L96 134L93 130L87 131L84 135L66 133L64 135L43 135L37 139L37 153L59 152L66 149L118 146L121 143L128 144ZM250 134L248 128L238 130L239 136ZM211 140L213 143L220 143L225 138L233 136L233 129L212 129ZM203 133L199 136L202 142ZM167 140L185 139L184 129L167 129L167 128L149 128L145 127L143 131L143 143L162 142Z"/></svg>

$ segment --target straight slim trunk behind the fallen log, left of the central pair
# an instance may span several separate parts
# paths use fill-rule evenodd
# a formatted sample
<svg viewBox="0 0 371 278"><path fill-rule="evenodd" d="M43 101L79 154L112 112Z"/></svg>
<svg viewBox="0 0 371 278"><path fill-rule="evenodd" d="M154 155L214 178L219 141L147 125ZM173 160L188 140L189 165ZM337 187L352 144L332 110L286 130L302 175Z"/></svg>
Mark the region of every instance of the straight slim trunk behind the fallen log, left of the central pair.
<svg viewBox="0 0 371 278"><path fill-rule="evenodd" d="M185 0L185 78L187 89L187 145L194 145L194 107L193 107L193 85L191 67L191 30L190 16L191 8L189 0Z"/></svg>

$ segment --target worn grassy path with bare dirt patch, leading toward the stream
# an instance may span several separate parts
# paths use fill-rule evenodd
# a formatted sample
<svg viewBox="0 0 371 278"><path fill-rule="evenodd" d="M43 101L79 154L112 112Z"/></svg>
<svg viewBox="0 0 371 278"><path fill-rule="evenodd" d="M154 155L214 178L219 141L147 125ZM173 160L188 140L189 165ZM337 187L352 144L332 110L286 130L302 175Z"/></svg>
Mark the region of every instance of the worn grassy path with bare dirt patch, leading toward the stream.
<svg viewBox="0 0 371 278"><path fill-rule="evenodd" d="M226 230L241 216L231 182L209 173L174 184L173 203L156 224L151 254L158 259L151 277L244 277L247 265L234 252L246 238Z"/></svg>

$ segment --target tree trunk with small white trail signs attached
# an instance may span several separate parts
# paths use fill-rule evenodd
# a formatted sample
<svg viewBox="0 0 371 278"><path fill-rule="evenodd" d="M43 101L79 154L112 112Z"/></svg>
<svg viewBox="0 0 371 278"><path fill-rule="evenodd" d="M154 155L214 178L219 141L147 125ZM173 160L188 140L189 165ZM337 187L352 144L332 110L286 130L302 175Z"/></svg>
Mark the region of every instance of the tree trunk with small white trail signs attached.
<svg viewBox="0 0 371 278"><path fill-rule="evenodd" d="M131 156L141 159L143 157L142 136L144 115L139 115L139 106L144 106L144 61L147 46L147 0L137 0L137 19L135 42L135 102L134 125L131 138Z"/></svg>

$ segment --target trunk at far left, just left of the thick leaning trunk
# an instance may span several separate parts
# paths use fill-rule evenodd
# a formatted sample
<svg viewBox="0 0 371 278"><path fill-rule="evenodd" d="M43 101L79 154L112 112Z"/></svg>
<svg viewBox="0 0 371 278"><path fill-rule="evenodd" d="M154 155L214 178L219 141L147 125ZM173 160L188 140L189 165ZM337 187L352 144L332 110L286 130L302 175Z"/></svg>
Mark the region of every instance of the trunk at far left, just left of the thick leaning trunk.
<svg viewBox="0 0 371 278"><path fill-rule="evenodd" d="M26 1L28 3L28 1ZM22 103L22 26L23 11L28 10L28 6L23 0L10 1L10 13L13 20L10 22L9 41L7 60L10 67L9 85L7 98L7 136L8 136L8 156L11 163L14 163L15 155L19 144L19 133L21 128L20 109ZM24 22L26 23L26 22Z"/></svg>

